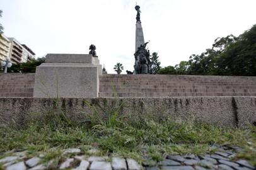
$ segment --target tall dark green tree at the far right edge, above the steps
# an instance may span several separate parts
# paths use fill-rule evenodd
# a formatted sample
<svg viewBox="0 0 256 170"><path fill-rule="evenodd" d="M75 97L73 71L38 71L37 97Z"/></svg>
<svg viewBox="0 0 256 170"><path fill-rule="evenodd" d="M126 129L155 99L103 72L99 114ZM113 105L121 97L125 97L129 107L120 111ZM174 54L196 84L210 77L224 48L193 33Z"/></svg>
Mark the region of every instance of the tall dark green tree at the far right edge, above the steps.
<svg viewBox="0 0 256 170"><path fill-rule="evenodd" d="M256 76L256 25L230 43L216 64L221 75Z"/></svg>

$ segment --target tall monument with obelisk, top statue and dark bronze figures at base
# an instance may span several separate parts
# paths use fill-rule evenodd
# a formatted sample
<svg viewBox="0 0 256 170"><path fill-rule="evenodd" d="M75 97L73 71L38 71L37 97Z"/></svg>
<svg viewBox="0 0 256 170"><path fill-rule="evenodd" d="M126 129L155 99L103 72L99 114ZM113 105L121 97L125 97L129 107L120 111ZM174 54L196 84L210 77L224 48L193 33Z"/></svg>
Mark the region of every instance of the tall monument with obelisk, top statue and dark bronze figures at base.
<svg viewBox="0 0 256 170"><path fill-rule="evenodd" d="M150 53L146 49L149 42L144 42L143 27L141 26L141 10L140 6L135 6L137 11L136 16L136 44L135 44L135 74L152 74L151 61L149 59Z"/></svg>

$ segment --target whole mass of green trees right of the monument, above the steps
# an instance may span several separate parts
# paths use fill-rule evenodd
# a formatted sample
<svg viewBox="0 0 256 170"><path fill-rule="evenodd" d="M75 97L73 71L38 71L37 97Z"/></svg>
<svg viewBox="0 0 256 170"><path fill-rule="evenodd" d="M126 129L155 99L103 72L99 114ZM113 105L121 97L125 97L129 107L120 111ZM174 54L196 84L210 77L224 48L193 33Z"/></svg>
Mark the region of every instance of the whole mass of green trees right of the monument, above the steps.
<svg viewBox="0 0 256 170"><path fill-rule="evenodd" d="M166 73L173 74L170 70ZM177 74L256 76L256 25L239 37L228 35L217 38L212 48L199 55L191 55L189 61L175 65Z"/></svg>

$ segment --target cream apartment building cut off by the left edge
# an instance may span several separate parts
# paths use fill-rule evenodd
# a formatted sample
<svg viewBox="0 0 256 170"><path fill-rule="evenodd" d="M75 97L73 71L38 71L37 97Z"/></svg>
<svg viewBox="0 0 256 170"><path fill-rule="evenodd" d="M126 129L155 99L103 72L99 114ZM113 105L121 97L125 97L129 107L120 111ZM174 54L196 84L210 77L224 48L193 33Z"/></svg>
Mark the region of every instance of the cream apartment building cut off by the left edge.
<svg viewBox="0 0 256 170"><path fill-rule="evenodd" d="M11 42L3 34L0 35L0 62L1 60L6 60L9 57L9 52L11 48Z"/></svg>

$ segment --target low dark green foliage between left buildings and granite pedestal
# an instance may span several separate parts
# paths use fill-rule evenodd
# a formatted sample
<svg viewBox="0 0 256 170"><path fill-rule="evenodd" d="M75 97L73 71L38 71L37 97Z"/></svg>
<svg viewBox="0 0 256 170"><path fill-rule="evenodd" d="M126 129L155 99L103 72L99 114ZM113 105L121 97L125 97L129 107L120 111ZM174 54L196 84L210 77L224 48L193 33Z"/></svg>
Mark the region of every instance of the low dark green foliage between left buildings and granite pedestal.
<svg viewBox="0 0 256 170"><path fill-rule="evenodd" d="M13 64L8 68L8 72L35 72L38 65L45 62L45 58L32 59L28 62L23 62L20 64Z"/></svg>

